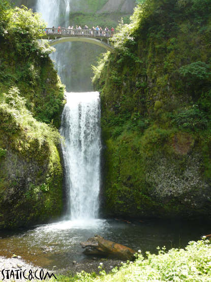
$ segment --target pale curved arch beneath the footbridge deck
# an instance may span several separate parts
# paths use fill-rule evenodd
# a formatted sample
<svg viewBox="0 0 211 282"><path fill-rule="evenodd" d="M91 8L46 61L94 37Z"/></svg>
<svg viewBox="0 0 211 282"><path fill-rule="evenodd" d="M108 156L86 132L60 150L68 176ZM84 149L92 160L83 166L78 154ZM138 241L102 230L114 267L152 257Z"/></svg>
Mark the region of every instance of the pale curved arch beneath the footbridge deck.
<svg viewBox="0 0 211 282"><path fill-rule="evenodd" d="M72 42L72 41L80 41L80 42L86 42L86 43L91 43L91 44L95 44L98 46L103 47L106 50L109 50L111 53L114 53L115 49L113 46L103 42L102 40L99 39L95 39L95 38L90 38L90 37L61 37L61 38L56 38L54 40L49 41L49 45L50 46L54 46L56 44L59 43L64 43L64 42Z"/></svg>

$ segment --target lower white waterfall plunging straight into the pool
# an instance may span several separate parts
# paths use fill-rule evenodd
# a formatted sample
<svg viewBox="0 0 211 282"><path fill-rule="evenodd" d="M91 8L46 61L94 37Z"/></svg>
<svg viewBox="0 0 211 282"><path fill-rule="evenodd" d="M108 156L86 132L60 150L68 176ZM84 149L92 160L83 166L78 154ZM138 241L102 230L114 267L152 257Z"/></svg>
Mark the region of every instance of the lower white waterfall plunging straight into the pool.
<svg viewBox="0 0 211 282"><path fill-rule="evenodd" d="M70 216L97 218L100 191L100 97L98 92L67 93L61 134Z"/></svg>

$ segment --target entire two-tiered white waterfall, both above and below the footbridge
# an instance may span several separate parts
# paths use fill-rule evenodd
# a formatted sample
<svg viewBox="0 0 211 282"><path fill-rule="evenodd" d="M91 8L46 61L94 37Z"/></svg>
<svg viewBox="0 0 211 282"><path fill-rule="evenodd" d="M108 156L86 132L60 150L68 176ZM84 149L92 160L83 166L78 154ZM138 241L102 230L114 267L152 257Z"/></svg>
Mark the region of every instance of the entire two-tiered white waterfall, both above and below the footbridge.
<svg viewBox="0 0 211 282"><path fill-rule="evenodd" d="M62 25L61 20L68 27L70 3L71 0L38 0L37 12L48 27ZM64 83L63 73L70 72L70 66L63 63L67 48L71 48L71 43L56 46L51 55ZM66 97L61 135L65 137L62 149L68 216L71 220L94 219L98 215L100 190L100 97L98 92L66 93Z"/></svg>

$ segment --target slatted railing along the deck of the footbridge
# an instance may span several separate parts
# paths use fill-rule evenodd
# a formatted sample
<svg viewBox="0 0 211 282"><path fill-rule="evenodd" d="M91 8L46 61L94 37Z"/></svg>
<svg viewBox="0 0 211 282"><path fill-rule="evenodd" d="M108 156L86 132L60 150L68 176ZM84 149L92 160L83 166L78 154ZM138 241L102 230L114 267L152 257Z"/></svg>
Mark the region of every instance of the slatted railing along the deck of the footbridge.
<svg viewBox="0 0 211 282"><path fill-rule="evenodd" d="M46 28L46 36L85 36L85 37L102 37L111 38L114 31L96 31L96 30L78 30L78 29L58 29L58 28Z"/></svg>

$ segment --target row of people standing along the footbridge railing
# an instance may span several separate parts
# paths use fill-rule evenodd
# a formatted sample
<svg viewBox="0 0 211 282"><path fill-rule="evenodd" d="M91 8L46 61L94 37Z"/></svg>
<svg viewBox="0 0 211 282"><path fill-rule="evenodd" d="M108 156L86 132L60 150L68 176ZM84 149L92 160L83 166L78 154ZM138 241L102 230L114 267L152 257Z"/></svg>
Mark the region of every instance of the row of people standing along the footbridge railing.
<svg viewBox="0 0 211 282"><path fill-rule="evenodd" d="M80 25L70 26L68 29L62 28L61 25L59 25L57 28L52 27L52 29L45 29L46 34L62 34L62 35L90 35L90 36L105 36L110 37L114 34L114 28L112 27L111 30L106 27L105 29L102 29L97 25L97 27L93 27L92 29L89 29L87 25L82 29Z"/></svg>

